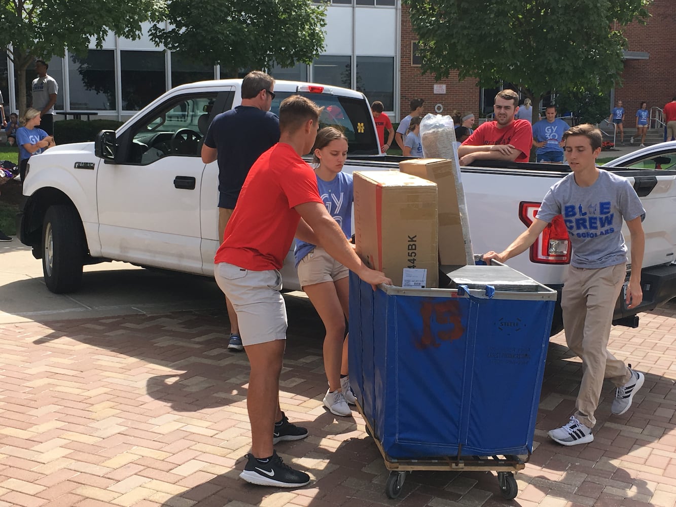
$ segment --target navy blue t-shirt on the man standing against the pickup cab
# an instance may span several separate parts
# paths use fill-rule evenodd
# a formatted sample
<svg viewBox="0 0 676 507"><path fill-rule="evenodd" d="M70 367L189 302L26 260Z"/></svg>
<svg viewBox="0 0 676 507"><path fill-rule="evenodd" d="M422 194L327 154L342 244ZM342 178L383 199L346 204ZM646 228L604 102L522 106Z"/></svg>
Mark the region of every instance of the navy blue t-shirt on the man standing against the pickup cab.
<svg viewBox="0 0 676 507"><path fill-rule="evenodd" d="M218 150L218 208L235 208L249 169L278 141L279 118L258 107L238 105L214 118L204 144Z"/></svg>

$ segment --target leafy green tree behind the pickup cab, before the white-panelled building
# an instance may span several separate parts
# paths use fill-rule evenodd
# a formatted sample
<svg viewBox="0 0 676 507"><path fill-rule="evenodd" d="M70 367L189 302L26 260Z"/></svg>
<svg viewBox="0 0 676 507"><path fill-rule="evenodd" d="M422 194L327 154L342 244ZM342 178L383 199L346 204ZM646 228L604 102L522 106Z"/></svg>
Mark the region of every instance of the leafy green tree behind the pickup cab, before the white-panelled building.
<svg viewBox="0 0 676 507"><path fill-rule="evenodd" d="M151 40L193 62L241 68L311 64L324 45L324 5L311 0L170 0Z"/></svg>

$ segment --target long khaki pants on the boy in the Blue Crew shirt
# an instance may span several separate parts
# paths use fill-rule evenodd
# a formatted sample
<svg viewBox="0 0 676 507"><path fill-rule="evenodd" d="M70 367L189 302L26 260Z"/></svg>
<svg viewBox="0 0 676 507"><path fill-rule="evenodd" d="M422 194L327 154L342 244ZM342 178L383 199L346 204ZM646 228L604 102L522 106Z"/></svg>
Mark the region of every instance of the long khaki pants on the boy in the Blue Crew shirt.
<svg viewBox="0 0 676 507"><path fill-rule="evenodd" d="M596 425L604 379L620 387L629 381L631 371L608 352L615 301L622 289L625 264L600 269L569 266L563 286L561 308L568 347L582 359L582 384L577 394L575 417L583 425Z"/></svg>

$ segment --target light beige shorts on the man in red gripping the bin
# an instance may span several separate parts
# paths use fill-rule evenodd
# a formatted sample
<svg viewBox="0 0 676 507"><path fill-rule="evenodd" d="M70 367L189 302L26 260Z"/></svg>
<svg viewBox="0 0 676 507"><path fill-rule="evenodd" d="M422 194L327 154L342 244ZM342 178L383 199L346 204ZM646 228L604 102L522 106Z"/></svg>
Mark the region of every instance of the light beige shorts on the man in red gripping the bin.
<svg viewBox="0 0 676 507"><path fill-rule="evenodd" d="M287 307L278 270L251 271L220 262L214 275L237 312L245 347L287 338Z"/></svg>

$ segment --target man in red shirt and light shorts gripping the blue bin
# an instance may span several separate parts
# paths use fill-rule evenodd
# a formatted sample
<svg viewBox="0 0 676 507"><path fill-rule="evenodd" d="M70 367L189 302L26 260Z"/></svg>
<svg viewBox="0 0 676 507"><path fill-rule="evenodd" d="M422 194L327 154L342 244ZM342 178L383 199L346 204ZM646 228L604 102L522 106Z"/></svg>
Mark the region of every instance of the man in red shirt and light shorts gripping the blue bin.
<svg viewBox="0 0 676 507"><path fill-rule="evenodd" d="M372 285L391 284L355 254L319 197L314 171L301 155L317 135L320 108L299 95L279 106L279 143L251 166L237 207L216 251L216 282L232 302L251 372L247 410L251 453L240 477L254 484L299 487L310 476L284 464L272 445L308 436L279 406L287 312L279 270L293 237L322 245L335 260Z"/></svg>

